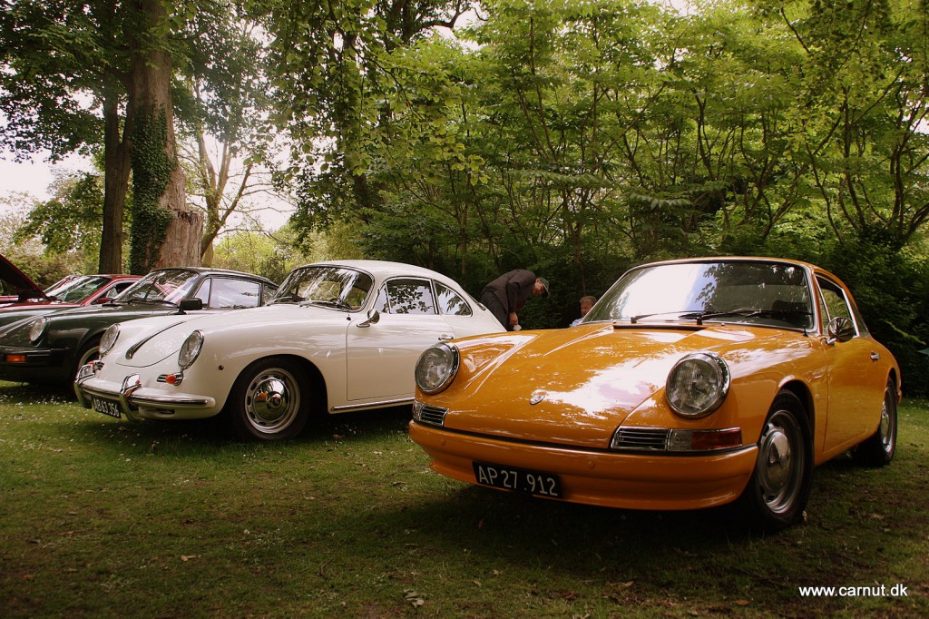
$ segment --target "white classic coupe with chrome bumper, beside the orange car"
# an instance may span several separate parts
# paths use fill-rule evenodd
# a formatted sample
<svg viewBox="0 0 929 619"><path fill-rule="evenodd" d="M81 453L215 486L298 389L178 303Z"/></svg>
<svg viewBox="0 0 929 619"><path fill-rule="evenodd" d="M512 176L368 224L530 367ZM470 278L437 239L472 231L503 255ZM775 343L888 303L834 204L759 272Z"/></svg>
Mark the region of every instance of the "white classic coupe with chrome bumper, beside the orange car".
<svg viewBox="0 0 929 619"><path fill-rule="evenodd" d="M242 439L296 435L313 413L412 402L435 342L502 331L458 283L377 260L310 264L268 307L112 327L75 382L88 408L137 420L224 416Z"/></svg>

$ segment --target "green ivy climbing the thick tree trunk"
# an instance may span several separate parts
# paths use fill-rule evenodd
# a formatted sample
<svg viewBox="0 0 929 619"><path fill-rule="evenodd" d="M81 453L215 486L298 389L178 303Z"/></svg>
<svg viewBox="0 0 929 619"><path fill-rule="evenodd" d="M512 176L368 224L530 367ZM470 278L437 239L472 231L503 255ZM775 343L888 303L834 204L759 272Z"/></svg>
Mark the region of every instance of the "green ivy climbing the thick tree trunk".
<svg viewBox="0 0 929 619"><path fill-rule="evenodd" d="M167 121L164 110L149 108L137 114L133 131L133 208L129 269L144 274L151 270L174 216L161 197L177 161L165 151Z"/></svg>

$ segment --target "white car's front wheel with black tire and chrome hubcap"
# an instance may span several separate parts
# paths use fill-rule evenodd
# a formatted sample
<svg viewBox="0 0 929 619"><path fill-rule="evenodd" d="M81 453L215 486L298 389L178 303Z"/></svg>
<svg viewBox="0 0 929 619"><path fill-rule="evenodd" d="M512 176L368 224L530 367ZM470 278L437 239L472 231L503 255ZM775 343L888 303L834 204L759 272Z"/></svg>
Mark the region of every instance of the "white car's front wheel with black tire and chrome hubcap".
<svg viewBox="0 0 929 619"><path fill-rule="evenodd" d="M244 441L292 439L307 425L313 384L296 362L261 359L236 379L225 415L233 434Z"/></svg>

